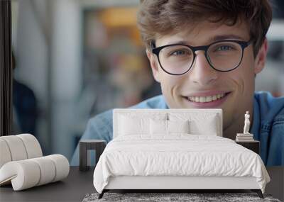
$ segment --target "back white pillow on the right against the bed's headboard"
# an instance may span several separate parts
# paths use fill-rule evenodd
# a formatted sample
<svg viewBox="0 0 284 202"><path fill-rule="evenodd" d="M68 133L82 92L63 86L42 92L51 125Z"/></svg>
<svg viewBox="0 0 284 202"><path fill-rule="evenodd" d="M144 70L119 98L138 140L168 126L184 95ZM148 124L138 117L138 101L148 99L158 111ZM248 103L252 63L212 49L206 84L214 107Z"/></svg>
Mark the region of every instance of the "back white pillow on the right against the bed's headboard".
<svg viewBox="0 0 284 202"><path fill-rule="evenodd" d="M190 134L217 135L222 130L216 113L169 113L168 116L170 120L190 120Z"/></svg>

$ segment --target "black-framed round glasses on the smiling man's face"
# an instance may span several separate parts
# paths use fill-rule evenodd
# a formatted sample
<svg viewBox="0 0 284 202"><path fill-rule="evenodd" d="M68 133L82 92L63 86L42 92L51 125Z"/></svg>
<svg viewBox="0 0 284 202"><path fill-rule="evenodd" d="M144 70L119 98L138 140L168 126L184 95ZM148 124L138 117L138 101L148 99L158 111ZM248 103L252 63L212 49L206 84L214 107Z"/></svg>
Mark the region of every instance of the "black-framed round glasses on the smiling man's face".
<svg viewBox="0 0 284 202"><path fill-rule="evenodd" d="M219 40L209 45L191 46L170 44L155 47L151 44L152 52L157 55L160 67L172 75L187 73L195 62L196 51L203 50L210 66L219 72L229 72L241 64L244 49L252 40Z"/></svg>

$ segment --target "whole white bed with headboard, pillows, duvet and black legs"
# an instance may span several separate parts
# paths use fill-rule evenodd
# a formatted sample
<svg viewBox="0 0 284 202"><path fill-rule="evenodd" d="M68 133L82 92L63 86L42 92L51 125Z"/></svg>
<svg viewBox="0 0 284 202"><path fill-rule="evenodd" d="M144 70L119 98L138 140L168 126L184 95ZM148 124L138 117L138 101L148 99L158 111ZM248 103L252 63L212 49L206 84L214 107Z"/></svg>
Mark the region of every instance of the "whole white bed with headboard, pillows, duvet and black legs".
<svg viewBox="0 0 284 202"><path fill-rule="evenodd" d="M114 139L94 170L110 189L251 189L270 181L261 157L222 138L220 109L115 109Z"/></svg>

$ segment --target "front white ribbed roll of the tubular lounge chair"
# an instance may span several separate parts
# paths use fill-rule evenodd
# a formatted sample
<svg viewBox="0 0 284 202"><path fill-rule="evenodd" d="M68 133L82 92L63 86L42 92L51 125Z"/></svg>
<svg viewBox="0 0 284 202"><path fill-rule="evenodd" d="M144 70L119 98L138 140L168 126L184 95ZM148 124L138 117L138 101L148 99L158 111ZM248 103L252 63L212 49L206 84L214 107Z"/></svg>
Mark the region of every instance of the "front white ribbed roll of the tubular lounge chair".
<svg viewBox="0 0 284 202"><path fill-rule="evenodd" d="M69 171L62 155L7 162L0 169L0 185L12 184L14 191L20 191L64 179Z"/></svg>

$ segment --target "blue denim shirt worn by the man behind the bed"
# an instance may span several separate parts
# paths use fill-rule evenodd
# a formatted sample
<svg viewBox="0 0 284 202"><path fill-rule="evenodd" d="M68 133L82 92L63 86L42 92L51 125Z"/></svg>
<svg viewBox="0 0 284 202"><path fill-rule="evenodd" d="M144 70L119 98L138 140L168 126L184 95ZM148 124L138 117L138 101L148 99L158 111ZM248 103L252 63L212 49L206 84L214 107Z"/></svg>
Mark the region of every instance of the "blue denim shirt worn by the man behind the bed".
<svg viewBox="0 0 284 202"><path fill-rule="evenodd" d="M138 103L131 108L168 108L162 95ZM268 166L284 165L284 97L274 98L268 92L256 92L253 103L253 125L250 133L261 142L261 158ZM81 140L112 139L112 110L89 119ZM71 165L79 165L79 145Z"/></svg>

